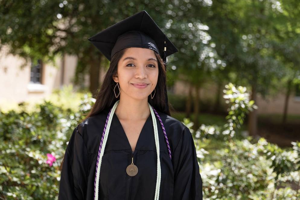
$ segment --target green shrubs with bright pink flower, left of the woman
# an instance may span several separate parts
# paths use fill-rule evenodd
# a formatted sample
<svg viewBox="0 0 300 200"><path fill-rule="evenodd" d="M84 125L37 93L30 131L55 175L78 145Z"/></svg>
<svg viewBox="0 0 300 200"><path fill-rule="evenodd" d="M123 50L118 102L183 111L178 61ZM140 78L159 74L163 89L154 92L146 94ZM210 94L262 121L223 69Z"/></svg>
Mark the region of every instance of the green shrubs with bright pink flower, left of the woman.
<svg viewBox="0 0 300 200"><path fill-rule="evenodd" d="M90 96L75 113L49 101L32 113L0 113L0 199L57 199L67 141L95 102Z"/></svg>

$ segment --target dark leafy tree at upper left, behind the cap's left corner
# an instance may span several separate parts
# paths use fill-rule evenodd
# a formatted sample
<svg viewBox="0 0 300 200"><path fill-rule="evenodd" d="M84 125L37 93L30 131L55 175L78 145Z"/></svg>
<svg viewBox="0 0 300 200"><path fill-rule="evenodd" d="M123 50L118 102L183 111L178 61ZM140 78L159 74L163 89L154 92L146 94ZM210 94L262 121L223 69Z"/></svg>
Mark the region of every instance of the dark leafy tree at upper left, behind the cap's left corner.
<svg viewBox="0 0 300 200"><path fill-rule="evenodd" d="M54 63L57 56L65 53L76 55L75 83L82 82L83 75L88 72L89 90L95 94L99 87L100 66L108 63L88 38L141 11L147 3L5 0L0 4L0 40L1 46L10 47L8 53L25 58L24 65L38 59Z"/></svg>

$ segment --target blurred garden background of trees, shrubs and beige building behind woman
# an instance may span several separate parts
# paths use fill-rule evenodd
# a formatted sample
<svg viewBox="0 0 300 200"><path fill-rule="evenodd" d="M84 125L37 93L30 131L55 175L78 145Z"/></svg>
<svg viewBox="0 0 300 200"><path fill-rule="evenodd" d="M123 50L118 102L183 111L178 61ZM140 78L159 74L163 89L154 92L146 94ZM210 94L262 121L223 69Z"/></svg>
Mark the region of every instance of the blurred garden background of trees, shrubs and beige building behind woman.
<svg viewBox="0 0 300 200"><path fill-rule="evenodd" d="M203 199L300 199L298 0L0 0L0 199L57 199L72 130L109 61L87 39L145 10Z"/></svg>

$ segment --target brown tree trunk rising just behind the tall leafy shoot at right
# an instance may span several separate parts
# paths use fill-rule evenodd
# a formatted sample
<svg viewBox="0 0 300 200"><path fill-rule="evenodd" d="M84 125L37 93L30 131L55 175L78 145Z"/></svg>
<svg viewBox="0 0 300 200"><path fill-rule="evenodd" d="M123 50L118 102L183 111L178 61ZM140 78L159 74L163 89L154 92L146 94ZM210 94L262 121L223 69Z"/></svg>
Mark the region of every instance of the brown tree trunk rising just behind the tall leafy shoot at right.
<svg viewBox="0 0 300 200"><path fill-rule="evenodd" d="M256 95L257 95L257 83L255 82L252 84L252 94L251 94L251 100L254 100L254 103L256 103ZM249 113L249 120L248 120L248 130L249 135L255 136L257 135L257 110L253 109L252 112Z"/></svg>

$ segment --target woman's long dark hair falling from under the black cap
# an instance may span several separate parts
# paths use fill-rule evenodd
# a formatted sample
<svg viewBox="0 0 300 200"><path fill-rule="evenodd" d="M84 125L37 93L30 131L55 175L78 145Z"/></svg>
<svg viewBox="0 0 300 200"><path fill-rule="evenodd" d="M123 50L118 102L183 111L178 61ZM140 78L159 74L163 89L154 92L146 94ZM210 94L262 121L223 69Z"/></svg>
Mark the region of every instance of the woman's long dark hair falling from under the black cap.
<svg viewBox="0 0 300 200"><path fill-rule="evenodd" d="M97 115L99 113L101 113L101 111L107 109L107 108L111 108L114 103L116 103L117 100L120 99L120 95L118 98L115 97L114 94L114 87L116 86L116 82L113 80L113 75L116 75L117 73L117 69L118 69L118 62L119 60L122 58L124 52L126 49L122 49L118 52L116 52L116 54L111 58L110 61L110 65L109 68L104 76L104 80L103 83L101 85L101 89L99 90L98 94L97 94L97 98L96 98L96 102L94 104L94 106L92 107L92 109L90 110L89 113L85 113L83 115L86 115L86 117L84 119L82 119L78 124L80 124L81 122L85 121L85 119ZM157 84L155 87L155 95L153 97L153 99L151 99L150 95L148 97L148 102L150 103L150 105L152 105L155 110L158 110L162 113L165 113L169 116L171 116L170 114L170 110L174 110L173 107L171 106L171 104L169 105L169 111L165 112L165 107L166 105L166 99L165 99L165 93L164 93L164 86L166 84L166 80L167 80L167 75L166 75L166 69L164 67L164 61L162 60L161 56L154 52L156 59L158 61L158 80L157 80ZM63 161L65 160L65 158L63 158ZM62 163L60 166L60 170L62 170Z"/></svg>

